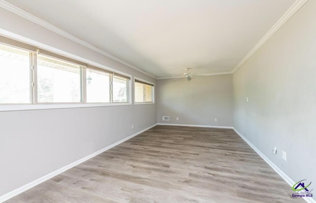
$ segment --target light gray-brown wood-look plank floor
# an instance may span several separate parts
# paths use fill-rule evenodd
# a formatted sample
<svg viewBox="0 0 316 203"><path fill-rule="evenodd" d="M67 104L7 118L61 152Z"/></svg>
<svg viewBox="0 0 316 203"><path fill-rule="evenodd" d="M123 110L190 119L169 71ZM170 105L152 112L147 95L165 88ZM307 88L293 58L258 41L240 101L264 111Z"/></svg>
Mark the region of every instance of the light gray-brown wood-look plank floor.
<svg viewBox="0 0 316 203"><path fill-rule="evenodd" d="M233 130L156 126L8 203L291 203Z"/></svg>

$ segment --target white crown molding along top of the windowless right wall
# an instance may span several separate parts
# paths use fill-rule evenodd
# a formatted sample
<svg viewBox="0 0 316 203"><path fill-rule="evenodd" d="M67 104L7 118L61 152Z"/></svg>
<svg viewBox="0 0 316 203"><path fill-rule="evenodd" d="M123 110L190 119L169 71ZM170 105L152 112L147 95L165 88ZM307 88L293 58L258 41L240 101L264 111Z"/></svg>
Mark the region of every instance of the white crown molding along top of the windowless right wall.
<svg viewBox="0 0 316 203"><path fill-rule="evenodd" d="M276 31L281 28L308 0L296 0L293 5L282 15L274 26L265 34L260 41L250 50L250 52L232 70L234 73L240 68Z"/></svg>

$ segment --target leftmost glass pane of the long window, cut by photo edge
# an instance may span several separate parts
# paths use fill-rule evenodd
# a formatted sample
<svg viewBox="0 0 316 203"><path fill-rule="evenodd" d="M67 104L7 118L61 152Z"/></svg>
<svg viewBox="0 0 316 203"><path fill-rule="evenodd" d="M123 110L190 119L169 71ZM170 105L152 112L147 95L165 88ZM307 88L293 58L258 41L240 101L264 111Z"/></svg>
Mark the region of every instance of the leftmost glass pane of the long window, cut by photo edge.
<svg viewBox="0 0 316 203"><path fill-rule="evenodd" d="M30 103L30 52L0 45L0 103Z"/></svg>

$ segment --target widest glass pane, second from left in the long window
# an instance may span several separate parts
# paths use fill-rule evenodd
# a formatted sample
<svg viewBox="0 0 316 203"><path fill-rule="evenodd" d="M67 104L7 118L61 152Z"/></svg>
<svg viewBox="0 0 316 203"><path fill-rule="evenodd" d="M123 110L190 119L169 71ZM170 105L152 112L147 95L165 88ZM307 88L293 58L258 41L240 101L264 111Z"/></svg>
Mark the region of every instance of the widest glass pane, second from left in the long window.
<svg viewBox="0 0 316 203"><path fill-rule="evenodd" d="M81 102L80 67L38 56L38 102Z"/></svg>

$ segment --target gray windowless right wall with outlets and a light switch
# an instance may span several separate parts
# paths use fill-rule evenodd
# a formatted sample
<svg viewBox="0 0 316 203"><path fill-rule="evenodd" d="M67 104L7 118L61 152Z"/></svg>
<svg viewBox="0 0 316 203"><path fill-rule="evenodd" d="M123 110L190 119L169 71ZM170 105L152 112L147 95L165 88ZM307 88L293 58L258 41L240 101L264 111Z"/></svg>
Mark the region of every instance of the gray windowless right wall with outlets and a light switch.
<svg viewBox="0 0 316 203"><path fill-rule="evenodd" d="M235 128L292 180L312 181L311 189L316 189L315 9L316 0L309 0L233 75Z"/></svg>

